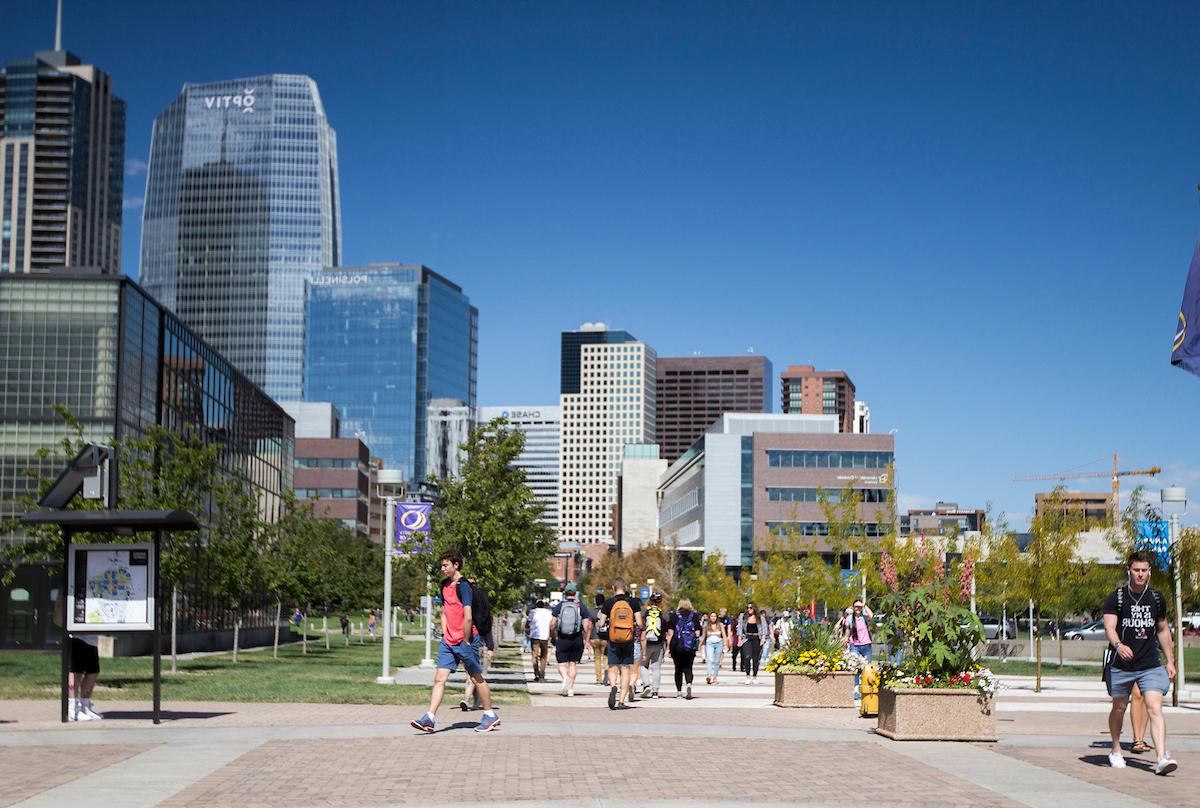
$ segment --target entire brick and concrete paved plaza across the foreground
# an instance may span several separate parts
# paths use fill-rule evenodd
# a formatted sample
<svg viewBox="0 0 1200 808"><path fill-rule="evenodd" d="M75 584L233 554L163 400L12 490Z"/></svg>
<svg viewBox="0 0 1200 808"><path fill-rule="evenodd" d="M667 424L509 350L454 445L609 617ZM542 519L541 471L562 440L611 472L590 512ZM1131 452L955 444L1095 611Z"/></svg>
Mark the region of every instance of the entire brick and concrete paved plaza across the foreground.
<svg viewBox="0 0 1200 808"><path fill-rule="evenodd" d="M490 735L472 731L479 713L446 707L426 736L408 726L420 707L168 704L154 726L148 705L106 702L106 720L64 726L56 702L0 701L0 806L529 808L564 804L566 794L575 806L1198 804L1200 705L1172 711L1181 768L1154 777L1152 761L1133 755L1129 768L1108 768L1098 681L1046 678L1033 694L1012 677L998 701L1000 743L938 744L887 741L852 710L773 707L766 677L714 688L697 670L692 701L611 712L590 668L568 699L552 665L550 681L528 682L533 704L503 708ZM607 762L612 749L630 753L623 765ZM570 774L553 768L559 760L572 761ZM668 784L664 772L677 761L713 761L720 776ZM852 788L851 770L866 773Z"/></svg>

